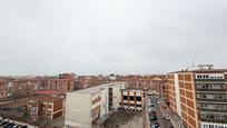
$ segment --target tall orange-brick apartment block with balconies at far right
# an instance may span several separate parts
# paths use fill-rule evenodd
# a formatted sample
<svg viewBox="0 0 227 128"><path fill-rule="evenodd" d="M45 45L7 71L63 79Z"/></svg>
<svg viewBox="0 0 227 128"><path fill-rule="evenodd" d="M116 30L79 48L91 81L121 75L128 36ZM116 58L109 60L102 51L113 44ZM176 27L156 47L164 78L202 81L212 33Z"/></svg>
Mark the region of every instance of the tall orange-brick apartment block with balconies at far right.
<svg viewBox="0 0 227 128"><path fill-rule="evenodd" d="M169 106L186 128L227 128L227 69L207 67L168 73Z"/></svg>

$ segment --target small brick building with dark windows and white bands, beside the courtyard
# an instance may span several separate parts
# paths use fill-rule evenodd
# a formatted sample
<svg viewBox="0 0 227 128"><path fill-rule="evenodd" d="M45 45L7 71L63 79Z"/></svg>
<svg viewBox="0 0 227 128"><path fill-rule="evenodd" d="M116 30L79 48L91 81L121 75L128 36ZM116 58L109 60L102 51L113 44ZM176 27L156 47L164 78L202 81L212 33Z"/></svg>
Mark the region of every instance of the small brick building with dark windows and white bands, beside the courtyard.
<svg viewBox="0 0 227 128"><path fill-rule="evenodd" d="M121 90L121 107L127 110L144 111L144 100L142 89Z"/></svg>

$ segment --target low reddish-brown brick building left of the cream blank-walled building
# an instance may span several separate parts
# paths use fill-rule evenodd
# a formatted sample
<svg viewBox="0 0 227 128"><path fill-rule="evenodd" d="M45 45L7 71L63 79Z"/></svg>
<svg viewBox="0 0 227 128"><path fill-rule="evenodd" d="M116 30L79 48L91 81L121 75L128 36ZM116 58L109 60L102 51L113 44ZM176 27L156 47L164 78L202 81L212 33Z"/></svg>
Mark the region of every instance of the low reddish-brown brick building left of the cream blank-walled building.
<svg viewBox="0 0 227 128"><path fill-rule="evenodd" d="M63 112L63 99L51 96L33 96L29 99L28 109L31 117L45 118L49 121L61 117Z"/></svg>

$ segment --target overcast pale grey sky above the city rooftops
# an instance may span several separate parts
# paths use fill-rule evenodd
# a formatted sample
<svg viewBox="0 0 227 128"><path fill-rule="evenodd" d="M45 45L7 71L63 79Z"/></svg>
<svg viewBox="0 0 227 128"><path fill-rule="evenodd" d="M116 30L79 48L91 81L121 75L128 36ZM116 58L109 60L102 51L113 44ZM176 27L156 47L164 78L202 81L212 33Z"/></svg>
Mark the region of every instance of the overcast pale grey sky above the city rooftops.
<svg viewBox="0 0 227 128"><path fill-rule="evenodd" d="M227 0L1 0L0 75L227 68Z"/></svg>

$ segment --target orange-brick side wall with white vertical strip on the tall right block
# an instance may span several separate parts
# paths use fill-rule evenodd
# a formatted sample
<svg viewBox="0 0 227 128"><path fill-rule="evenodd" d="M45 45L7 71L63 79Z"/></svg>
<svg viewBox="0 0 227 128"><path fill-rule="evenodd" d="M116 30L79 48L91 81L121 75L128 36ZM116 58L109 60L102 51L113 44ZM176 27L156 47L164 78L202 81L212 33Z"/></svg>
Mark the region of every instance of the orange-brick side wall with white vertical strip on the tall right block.
<svg viewBox="0 0 227 128"><path fill-rule="evenodd" d="M198 128L194 75L191 72L168 75L168 97L172 112L181 117L186 128Z"/></svg>

